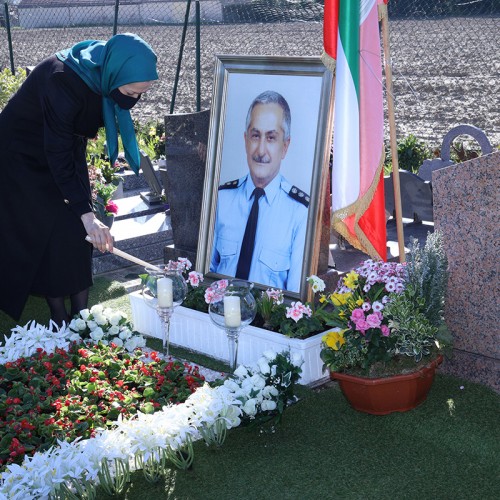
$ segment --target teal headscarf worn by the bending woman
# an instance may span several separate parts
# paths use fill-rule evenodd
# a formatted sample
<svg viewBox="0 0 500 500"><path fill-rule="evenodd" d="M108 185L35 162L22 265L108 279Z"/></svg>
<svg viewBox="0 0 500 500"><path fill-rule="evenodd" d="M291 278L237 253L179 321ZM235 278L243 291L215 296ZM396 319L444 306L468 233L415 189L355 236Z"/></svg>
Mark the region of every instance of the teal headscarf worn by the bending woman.
<svg viewBox="0 0 500 500"><path fill-rule="evenodd" d="M121 109L109 94L122 85L158 80L153 49L139 36L123 33L107 42L85 40L58 52L56 56L75 71L93 92L102 95L111 165L114 165L118 156L118 123L125 158L137 174L141 159L130 112Z"/></svg>

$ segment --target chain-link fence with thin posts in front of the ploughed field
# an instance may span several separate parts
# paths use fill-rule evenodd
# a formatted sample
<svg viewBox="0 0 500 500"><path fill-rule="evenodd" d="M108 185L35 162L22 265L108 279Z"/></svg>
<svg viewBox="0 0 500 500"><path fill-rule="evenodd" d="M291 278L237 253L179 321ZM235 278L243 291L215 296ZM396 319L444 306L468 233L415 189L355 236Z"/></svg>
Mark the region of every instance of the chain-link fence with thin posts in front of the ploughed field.
<svg viewBox="0 0 500 500"><path fill-rule="evenodd" d="M141 122L170 112L177 67L173 110L191 112L210 106L216 54L322 52L323 1L315 0L10 0L0 12L0 69L114 31L143 37L158 54L160 81L134 108ZM498 146L500 0L390 0L389 26L398 137L438 146L468 123Z"/></svg>

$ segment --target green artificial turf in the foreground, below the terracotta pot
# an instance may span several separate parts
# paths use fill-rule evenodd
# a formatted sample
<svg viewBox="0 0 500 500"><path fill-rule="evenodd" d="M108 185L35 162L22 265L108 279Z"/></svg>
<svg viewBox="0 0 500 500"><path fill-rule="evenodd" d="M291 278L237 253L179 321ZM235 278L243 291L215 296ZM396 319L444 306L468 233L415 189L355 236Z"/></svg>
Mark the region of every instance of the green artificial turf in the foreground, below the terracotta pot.
<svg viewBox="0 0 500 500"><path fill-rule="evenodd" d="M217 450L197 442L192 470L156 484L136 472L122 498L500 498L500 397L492 390L438 375L418 408L385 416L353 410L336 385L301 396L274 433L233 429Z"/></svg>

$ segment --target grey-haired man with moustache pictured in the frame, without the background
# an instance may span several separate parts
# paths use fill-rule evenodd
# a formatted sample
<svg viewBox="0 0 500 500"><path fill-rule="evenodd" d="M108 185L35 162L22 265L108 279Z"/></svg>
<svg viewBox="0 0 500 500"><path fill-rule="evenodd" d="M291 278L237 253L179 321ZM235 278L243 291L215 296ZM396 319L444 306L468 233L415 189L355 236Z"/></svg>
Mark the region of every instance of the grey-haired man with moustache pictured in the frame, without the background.
<svg viewBox="0 0 500 500"><path fill-rule="evenodd" d="M310 199L280 172L291 121L278 92L252 101L243 133L248 173L218 188L210 271L298 292Z"/></svg>

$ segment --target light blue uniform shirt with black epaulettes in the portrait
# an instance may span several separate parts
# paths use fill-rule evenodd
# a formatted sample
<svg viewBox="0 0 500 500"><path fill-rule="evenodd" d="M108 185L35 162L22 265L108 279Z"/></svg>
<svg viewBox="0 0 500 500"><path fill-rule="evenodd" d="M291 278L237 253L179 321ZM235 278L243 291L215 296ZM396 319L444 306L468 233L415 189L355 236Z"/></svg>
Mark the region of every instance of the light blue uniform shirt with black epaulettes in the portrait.
<svg viewBox="0 0 500 500"><path fill-rule="evenodd" d="M235 276L255 189L249 174L219 187L210 271ZM298 292L309 196L278 174L259 200L249 281Z"/></svg>

